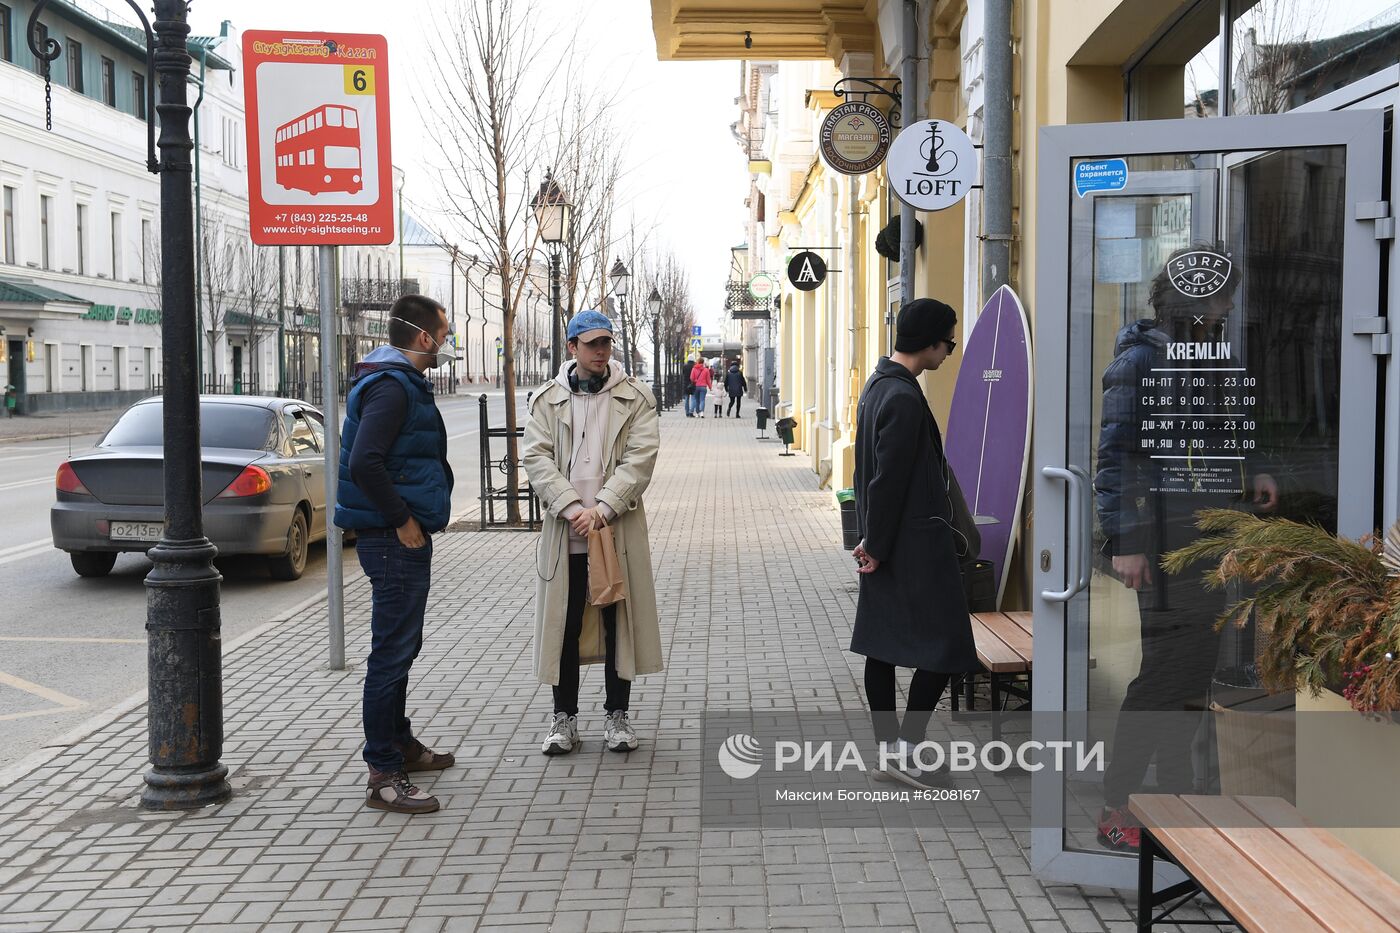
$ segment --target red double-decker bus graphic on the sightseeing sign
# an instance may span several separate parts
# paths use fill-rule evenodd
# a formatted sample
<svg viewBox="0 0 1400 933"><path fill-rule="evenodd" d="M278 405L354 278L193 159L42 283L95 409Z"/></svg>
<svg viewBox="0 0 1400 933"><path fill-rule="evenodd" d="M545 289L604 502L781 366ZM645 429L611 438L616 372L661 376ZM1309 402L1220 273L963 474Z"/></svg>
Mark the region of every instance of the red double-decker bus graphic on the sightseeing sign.
<svg viewBox="0 0 1400 933"><path fill-rule="evenodd" d="M353 106L323 104L277 127L277 184L319 195L358 192L360 115Z"/></svg>

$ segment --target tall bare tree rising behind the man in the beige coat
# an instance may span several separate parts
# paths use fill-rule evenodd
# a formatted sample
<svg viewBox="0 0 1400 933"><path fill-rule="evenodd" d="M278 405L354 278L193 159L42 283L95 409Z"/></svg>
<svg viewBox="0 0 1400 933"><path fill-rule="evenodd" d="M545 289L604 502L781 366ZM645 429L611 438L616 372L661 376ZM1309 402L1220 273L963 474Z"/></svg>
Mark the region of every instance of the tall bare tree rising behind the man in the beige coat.
<svg viewBox="0 0 1400 933"><path fill-rule="evenodd" d="M547 98L561 59L539 29L549 15L533 0L456 0L441 14L433 66L435 92L420 101L442 156L441 189L452 217L470 231L501 279L501 336L507 458L519 464L515 438L515 311L528 276L511 258L538 248L529 223L531 182L550 154ZM507 471L507 518L519 523L519 471Z"/></svg>

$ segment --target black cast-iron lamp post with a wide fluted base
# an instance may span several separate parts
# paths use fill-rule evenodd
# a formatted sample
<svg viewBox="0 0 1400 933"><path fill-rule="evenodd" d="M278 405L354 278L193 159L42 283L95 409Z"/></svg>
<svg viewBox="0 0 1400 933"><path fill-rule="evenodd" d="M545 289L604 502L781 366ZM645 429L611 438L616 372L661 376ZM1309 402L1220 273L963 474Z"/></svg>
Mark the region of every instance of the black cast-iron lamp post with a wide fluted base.
<svg viewBox="0 0 1400 933"><path fill-rule="evenodd" d="M161 363L165 525L147 555L147 677L151 769L141 806L192 810L232 796L224 751L218 551L204 537L203 462L195 350L193 193L190 191L190 56L185 0L155 1L153 57L161 118Z"/></svg>

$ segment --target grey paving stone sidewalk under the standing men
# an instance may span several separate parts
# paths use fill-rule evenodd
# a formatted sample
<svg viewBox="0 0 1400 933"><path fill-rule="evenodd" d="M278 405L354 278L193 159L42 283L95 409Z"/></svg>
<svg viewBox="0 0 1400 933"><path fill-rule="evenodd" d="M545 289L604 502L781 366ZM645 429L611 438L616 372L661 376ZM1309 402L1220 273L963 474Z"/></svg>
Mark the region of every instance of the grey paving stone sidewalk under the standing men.
<svg viewBox="0 0 1400 933"><path fill-rule="evenodd" d="M361 806L361 579L347 671L326 670L323 608L225 653L231 803L136 808L144 707L0 789L0 929L1130 929L1109 892L1042 885L1005 828L701 828L707 707L862 709L854 580L830 493L752 422L668 412L662 447L647 509L668 670L633 691L640 751L602 751L589 667L584 749L539 754L535 535L445 534L410 686L416 731L458 755L423 780L440 813Z"/></svg>

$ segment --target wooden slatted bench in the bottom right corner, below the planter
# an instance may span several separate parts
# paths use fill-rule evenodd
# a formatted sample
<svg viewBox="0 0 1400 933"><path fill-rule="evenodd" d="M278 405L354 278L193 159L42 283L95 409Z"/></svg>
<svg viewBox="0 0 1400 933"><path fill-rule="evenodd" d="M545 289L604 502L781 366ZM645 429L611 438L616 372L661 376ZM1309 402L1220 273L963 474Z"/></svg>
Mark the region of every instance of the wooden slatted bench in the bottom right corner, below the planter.
<svg viewBox="0 0 1400 933"><path fill-rule="evenodd" d="M1134 794L1128 810L1142 824L1140 932L1180 923L1172 911L1201 892L1245 930L1400 930L1400 883L1281 797ZM1158 859L1187 880L1156 891Z"/></svg>

